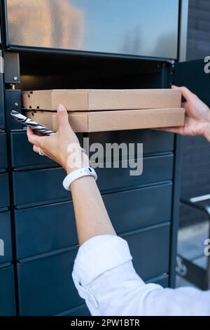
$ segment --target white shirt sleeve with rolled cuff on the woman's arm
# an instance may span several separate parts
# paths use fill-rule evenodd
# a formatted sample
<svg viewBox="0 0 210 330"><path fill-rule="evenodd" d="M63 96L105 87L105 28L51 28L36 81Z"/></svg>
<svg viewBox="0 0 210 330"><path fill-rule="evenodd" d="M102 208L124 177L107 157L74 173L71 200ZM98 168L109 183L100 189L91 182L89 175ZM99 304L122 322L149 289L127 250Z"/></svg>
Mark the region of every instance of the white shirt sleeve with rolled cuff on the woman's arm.
<svg viewBox="0 0 210 330"><path fill-rule="evenodd" d="M115 235L93 237L80 246L72 276L95 316L210 315L210 291L145 284L133 268L127 242Z"/></svg>

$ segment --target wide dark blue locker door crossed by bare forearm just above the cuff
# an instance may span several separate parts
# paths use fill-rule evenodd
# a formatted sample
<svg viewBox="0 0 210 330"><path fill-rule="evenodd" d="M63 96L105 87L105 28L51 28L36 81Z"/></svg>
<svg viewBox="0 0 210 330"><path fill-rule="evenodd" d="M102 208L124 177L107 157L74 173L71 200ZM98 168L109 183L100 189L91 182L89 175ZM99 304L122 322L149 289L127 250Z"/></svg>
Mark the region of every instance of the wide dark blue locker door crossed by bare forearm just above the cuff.
<svg viewBox="0 0 210 330"><path fill-rule="evenodd" d="M113 192L102 198L118 234L171 220L172 183ZM19 260L76 246L73 202L15 210L15 231Z"/></svg>

